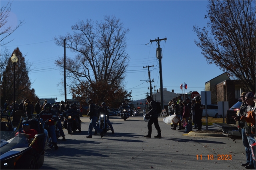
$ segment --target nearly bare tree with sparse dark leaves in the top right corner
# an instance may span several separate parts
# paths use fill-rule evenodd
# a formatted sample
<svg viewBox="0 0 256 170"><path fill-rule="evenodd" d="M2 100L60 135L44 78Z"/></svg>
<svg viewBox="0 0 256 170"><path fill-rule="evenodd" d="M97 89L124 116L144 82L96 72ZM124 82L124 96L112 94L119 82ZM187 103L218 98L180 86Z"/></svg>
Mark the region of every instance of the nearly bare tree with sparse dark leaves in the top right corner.
<svg viewBox="0 0 256 170"><path fill-rule="evenodd" d="M207 27L194 26L196 45L209 64L216 64L255 92L255 1L212 0L207 7Z"/></svg>

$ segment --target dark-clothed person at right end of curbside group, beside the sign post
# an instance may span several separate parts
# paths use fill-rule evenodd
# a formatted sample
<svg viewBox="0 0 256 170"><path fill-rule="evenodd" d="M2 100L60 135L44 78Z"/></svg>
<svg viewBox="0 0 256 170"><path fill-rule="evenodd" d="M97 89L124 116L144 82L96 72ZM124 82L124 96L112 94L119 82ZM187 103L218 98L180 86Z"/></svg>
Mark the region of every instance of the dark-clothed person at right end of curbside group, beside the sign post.
<svg viewBox="0 0 256 170"><path fill-rule="evenodd" d="M203 115L203 105L201 105L201 97L196 96L194 98L196 100L196 103L194 104L195 109L195 121L197 125L197 130L202 130L202 115Z"/></svg>

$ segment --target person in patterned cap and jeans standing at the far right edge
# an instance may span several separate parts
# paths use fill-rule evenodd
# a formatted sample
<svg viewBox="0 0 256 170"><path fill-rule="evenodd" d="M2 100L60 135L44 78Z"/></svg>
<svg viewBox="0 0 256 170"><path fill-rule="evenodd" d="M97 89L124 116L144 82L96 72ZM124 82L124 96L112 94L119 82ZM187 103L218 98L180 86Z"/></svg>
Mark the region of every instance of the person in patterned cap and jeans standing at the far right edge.
<svg viewBox="0 0 256 170"><path fill-rule="evenodd" d="M255 140L255 134L252 133L252 123L249 123L250 121L246 121L245 117L248 116L248 114L254 112L256 113L256 107L254 103L254 93L253 92L248 92L245 95L244 101L246 102L247 110L246 110L246 115L243 115L240 118L240 121L247 122L245 123L245 134L249 143L249 146L254 144L256 142ZM251 150L250 150L251 151ZM254 155L255 155L255 148L254 148ZM248 165L245 166L246 169L255 169L255 160L252 158L252 152L250 153L250 162Z"/></svg>

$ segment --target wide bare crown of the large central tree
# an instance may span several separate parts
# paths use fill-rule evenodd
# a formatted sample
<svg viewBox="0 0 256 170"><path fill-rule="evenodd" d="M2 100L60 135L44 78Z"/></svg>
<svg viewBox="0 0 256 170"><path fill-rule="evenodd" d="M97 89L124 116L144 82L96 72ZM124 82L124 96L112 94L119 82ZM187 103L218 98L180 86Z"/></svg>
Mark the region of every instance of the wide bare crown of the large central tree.
<svg viewBox="0 0 256 170"><path fill-rule="evenodd" d="M98 82L122 88L125 69L129 55L126 53L126 34L129 29L123 27L120 19L104 16L104 20L94 26L92 20L79 21L72 27L73 35L54 37L55 43L66 47L76 54L74 58L66 57L67 78L72 81L70 88L81 87L82 84L93 85ZM55 63L64 68L64 58ZM98 87L93 85L92 92L97 93ZM106 94L105 94L106 95ZM102 96L101 100L105 97Z"/></svg>

